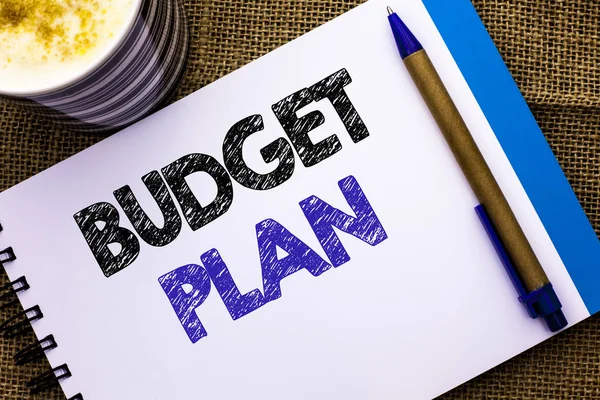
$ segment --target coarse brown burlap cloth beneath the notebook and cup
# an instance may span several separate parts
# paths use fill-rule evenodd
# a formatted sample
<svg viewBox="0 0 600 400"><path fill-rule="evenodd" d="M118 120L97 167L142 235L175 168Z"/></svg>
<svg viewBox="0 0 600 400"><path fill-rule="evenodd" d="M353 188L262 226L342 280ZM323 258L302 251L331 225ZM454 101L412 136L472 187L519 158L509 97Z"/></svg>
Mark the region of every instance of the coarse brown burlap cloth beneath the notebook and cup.
<svg viewBox="0 0 600 400"><path fill-rule="evenodd" d="M193 51L179 97L360 3L185 1ZM474 0L474 4L600 232L600 2ZM1 190L100 139L61 132L3 103L0 126ZM5 283L0 274L0 285ZM0 312L0 321L17 310ZM15 351L32 341L32 333L0 339L0 399L64 399L59 389L40 396L25 391L25 382L47 368L45 361L12 366ZM600 319L592 317L441 399L600 399Z"/></svg>

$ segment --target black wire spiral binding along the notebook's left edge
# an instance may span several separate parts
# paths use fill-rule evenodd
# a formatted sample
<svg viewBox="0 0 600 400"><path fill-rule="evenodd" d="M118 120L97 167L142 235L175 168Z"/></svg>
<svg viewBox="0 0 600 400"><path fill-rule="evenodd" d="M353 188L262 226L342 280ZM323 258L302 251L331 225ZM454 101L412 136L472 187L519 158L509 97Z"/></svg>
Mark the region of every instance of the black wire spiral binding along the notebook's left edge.
<svg viewBox="0 0 600 400"><path fill-rule="evenodd" d="M2 231L2 225L0 225L0 231ZM4 266L7 263L15 261L17 256L12 247L0 251L0 266ZM10 307L18 302L16 294L29 290L30 286L27 279L22 276L19 279L12 281L4 286L0 287L0 310ZM0 334L5 338L15 337L23 332L27 331L31 322L36 321L44 317L42 310L39 306L33 306L26 310L23 310L8 320L0 324ZM37 359L44 357L47 351L58 347L56 340L53 335L48 335L45 338L38 340L14 356L16 365L23 365ZM60 365L52 370L45 372L38 377L32 379L27 383L32 394L41 393L47 389L50 389L56 385L61 379L66 379L71 376L71 371L67 364ZM76 394L69 400L83 400L81 393Z"/></svg>

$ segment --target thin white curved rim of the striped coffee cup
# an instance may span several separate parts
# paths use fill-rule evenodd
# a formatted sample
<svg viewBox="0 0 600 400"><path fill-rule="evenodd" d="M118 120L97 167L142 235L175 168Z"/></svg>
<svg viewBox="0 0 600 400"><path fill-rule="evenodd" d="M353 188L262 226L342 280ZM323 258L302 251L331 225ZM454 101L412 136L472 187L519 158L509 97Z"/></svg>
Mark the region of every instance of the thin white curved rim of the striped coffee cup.
<svg viewBox="0 0 600 400"><path fill-rule="evenodd" d="M57 82L53 82L51 85L42 86L40 88L36 88L34 90L5 90L0 87L0 95L5 96L13 96L13 97L34 97L40 96L52 92L56 92L60 89L63 89L67 86L72 85L80 81L82 78L89 75L93 72L98 66L102 65L104 61L110 58L116 50L119 48L125 37L129 34L133 25L137 20L137 15L140 12L140 8L142 5L142 1L144 0L134 0L135 4L131 8L131 13L128 17L127 23L123 25L122 29L119 31L117 38L112 42L110 46L108 46L101 54L96 57L93 63L88 65L86 68L82 69L77 75L73 75L67 77L65 79L59 80ZM161 1L161 0L158 0Z"/></svg>

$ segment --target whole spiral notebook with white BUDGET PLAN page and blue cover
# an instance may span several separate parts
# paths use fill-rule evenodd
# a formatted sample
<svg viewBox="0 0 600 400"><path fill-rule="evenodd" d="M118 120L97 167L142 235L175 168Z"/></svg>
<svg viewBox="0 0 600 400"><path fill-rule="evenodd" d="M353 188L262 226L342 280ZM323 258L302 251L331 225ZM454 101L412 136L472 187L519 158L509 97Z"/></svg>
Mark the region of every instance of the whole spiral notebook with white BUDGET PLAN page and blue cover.
<svg viewBox="0 0 600 400"><path fill-rule="evenodd" d="M598 238L470 2L371 0L0 194L0 259L29 310L15 321L56 344L34 384L85 400L430 399L551 336L517 300L387 5L569 326L598 311Z"/></svg>

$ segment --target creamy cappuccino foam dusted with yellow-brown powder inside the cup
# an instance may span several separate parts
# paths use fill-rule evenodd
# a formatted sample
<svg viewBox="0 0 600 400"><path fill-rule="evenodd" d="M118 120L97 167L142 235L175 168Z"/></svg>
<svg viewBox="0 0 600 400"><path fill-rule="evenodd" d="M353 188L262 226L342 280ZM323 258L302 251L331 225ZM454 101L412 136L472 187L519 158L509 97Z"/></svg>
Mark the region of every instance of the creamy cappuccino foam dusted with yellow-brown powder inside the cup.
<svg viewBox="0 0 600 400"><path fill-rule="evenodd" d="M110 52L137 0L0 0L0 93L69 83Z"/></svg>

